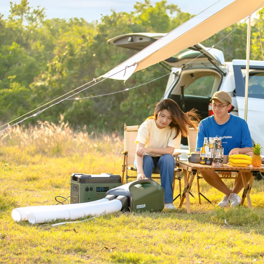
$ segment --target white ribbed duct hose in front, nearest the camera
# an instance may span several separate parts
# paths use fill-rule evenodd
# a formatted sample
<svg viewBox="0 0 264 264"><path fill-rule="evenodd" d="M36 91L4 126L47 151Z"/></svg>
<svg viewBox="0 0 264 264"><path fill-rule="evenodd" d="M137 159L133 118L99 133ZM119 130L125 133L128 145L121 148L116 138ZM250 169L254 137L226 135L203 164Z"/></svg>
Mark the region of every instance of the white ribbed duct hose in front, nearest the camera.
<svg viewBox="0 0 264 264"><path fill-rule="evenodd" d="M59 211L57 211L56 208L34 210L27 214L28 222L31 224L41 224L44 222L55 221L57 219L73 220L88 215L96 216L99 214L117 212L122 209L122 203L118 199L99 204L82 203L80 205L81 206L73 208L62 208Z"/></svg>

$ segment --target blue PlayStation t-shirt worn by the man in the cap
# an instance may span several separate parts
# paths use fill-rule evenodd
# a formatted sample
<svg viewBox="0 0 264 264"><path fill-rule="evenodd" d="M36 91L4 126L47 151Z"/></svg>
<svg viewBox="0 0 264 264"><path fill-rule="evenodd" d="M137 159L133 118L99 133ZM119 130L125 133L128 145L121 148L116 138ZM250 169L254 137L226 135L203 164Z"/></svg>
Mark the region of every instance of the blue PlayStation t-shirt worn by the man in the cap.
<svg viewBox="0 0 264 264"><path fill-rule="evenodd" d="M229 120L219 125L214 120L214 115L203 119L198 126L196 147L201 148L204 138L221 138L224 155L228 155L233 148L253 147L251 135L246 121L238 116L230 114Z"/></svg>

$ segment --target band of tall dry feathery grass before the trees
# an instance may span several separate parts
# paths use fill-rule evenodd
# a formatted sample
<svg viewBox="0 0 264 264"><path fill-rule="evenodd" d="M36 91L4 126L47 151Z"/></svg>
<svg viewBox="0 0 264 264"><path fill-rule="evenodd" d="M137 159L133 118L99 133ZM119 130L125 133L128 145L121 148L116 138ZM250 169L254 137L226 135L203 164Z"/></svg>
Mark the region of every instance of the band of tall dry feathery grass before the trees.
<svg viewBox="0 0 264 264"><path fill-rule="evenodd" d="M11 154L12 160L25 163L28 156L65 157L89 153L118 155L123 142L117 133L89 134L86 127L76 132L61 119L60 125L38 121L38 125L28 128L9 128L0 135L0 147L1 155L5 156L3 151L6 151L8 155Z"/></svg>

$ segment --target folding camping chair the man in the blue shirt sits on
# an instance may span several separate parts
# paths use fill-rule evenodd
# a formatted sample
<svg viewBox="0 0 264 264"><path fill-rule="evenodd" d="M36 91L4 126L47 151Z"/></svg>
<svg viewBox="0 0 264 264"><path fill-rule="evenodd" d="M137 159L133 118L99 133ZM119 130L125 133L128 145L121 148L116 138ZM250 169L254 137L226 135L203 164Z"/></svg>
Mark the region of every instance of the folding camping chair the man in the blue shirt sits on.
<svg viewBox="0 0 264 264"><path fill-rule="evenodd" d="M191 148L195 148L197 139L197 131L194 128L189 128L189 135L187 139L189 151L191 151ZM231 172L218 172L218 174L221 179L234 179L233 186L235 185L238 175L232 175ZM201 176L201 173L197 171L197 189L199 204L201 204L201 196L204 197L204 199L206 199L209 203L211 203L211 201L200 192L199 179L203 179L203 177Z"/></svg>

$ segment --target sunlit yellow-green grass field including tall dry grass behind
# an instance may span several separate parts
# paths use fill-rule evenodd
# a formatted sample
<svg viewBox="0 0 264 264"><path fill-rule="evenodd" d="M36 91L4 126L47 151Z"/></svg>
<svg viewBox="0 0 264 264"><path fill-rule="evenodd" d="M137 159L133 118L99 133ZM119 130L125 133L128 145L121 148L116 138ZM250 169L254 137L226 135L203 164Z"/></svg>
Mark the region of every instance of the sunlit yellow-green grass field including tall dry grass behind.
<svg viewBox="0 0 264 264"><path fill-rule="evenodd" d="M199 205L195 182L189 215L184 204L176 211L117 212L77 224L31 225L13 221L12 209L55 204L56 195L70 195L73 172L120 175L122 140L74 132L63 122L40 123L9 129L0 147L1 263L264 262L263 180L253 183L253 209L247 202L217 208L221 193L201 180L212 204L202 200Z"/></svg>

